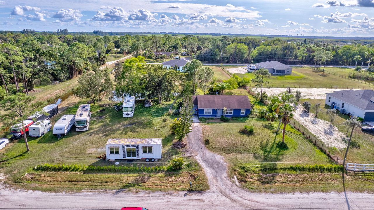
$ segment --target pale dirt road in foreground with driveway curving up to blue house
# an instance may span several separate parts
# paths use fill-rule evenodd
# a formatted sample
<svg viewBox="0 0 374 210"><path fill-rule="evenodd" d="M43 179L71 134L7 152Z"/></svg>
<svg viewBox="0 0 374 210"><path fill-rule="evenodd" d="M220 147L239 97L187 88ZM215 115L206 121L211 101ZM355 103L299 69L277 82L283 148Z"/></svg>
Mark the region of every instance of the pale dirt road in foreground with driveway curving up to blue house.
<svg viewBox="0 0 374 210"><path fill-rule="evenodd" d="M227 177L224 158L205 148L202 128L197 120L188 135L188 145L208 177L207 192L80 192L46 193L15 191L0 185L0 208L43 209L120 209L144 206L152 210L239 210L239 209L349 209L371 208L373 194L293 193L259 194L247 192ZM1 175L0 175L1 180Z"/></svg>

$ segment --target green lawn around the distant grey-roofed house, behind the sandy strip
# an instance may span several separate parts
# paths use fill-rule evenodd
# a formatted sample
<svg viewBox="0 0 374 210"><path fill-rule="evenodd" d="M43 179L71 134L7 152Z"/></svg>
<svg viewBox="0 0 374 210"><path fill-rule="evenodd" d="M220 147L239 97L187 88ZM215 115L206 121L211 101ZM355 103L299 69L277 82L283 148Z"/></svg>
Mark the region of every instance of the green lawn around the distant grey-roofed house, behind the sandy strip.
<svg viewBox="0 0 374 210"><path fill-rule="evenodd" d="M254 73L236 75L255 78ZM272 75L267 81L269 81L270 87L374 89L373 85L369 86L369 84L361 83L361 81L315 72L310 68L292 68L291 75Z"/></svg>

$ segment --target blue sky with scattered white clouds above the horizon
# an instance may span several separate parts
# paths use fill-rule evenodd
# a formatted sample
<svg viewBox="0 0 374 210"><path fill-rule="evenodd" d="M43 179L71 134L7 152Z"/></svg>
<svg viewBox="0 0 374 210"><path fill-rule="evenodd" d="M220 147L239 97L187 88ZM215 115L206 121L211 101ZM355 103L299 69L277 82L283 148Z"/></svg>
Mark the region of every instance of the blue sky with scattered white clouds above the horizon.
<svg viewBox="0 0 374 210"><path fill-rule="evenodd" d="M374 36L374 0L0 0L0 30Z"/></svg>

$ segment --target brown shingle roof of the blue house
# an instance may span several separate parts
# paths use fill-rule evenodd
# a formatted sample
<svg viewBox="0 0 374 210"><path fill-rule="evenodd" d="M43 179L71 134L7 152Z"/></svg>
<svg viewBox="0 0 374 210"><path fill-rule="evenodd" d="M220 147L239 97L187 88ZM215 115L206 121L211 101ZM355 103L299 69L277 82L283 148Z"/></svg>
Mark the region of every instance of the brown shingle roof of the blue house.
<svg viewBox="0 0 374 210"><path fill-rule="evenodd" d="M199 109L252 109L248 96L197 95L196 98Z"/></svg>

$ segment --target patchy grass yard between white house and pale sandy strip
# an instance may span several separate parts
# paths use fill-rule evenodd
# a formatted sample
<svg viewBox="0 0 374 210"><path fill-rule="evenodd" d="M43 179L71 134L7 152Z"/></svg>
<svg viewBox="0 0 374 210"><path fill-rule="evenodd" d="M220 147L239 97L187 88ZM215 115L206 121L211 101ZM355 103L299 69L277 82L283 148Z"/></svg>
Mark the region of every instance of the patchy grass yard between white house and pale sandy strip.
<svg viewBox="0 0 374 210"><path fill-rule="evenodd" d="M329 105L325 105L324 99L301 99L300 104L305 101L309 101L312 105L316 103L321 104L321 111L318 113L318 118L326 121L330 121L329 117L326 114L326 110L330 108ZM315 113L313 109L310 110L312 113ZM348 119L348 115L340 114L337 112L337 117L332 122L332 125L336 126L338 130L344 134L347 133L347 128L343 125L344 121ZM350 131L348 135L350 135ZM353 131L352 141L358 143L359 148L350 147L347 154L348 162L361 162L361 161L373 161L374 160L374 134L368 132L362 132L361 128L356 128ZM354 145L354 144L353 144ZM335 154L340 159L343 159L346 150L342 149ZM371 163L370 163L371 164Z"/></svg>

